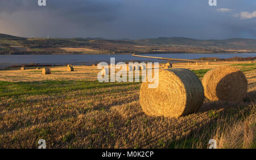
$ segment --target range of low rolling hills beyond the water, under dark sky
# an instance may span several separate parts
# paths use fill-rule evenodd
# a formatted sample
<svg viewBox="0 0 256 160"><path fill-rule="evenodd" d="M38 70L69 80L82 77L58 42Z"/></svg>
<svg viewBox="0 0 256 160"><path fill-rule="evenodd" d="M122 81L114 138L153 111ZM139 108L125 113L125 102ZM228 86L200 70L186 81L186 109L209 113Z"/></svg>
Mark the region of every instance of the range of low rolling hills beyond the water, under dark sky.
<svg viewBox="0 0 256 160"><path fill-rule="evenodd" d="M18 47L17 47L18 46ZM0 54L67 54L61 48L96 50L92 54L142 53L247 53L256 52L256 40L196 40L185 37L159 37L142 40L107 40L104 38L23 38L0 33ZM17 50L23 47L24 50ZM73 54L87 54L75 51Z"/></svg>

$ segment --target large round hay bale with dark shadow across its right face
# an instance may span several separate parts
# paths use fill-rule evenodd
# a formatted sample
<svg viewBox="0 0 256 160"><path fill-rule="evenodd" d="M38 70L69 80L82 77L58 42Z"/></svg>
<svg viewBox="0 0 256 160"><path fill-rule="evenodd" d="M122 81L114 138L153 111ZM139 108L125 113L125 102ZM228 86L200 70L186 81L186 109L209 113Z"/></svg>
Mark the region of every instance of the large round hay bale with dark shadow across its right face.
<svg viewBox="0 0 256 160"><path fill-rule="evenodd" d="M247 80L245 75L232 66L221 66L205 73L204 94L212 101L241 101L246 96Z"/></svg>

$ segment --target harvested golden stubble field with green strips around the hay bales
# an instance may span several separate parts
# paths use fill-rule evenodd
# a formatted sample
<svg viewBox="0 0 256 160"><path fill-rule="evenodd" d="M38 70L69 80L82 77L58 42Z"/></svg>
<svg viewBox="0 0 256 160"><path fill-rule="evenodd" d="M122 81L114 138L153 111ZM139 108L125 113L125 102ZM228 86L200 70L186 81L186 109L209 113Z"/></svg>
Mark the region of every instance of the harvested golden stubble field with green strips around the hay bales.
<svg viewBox="0 0 256 160"><path fill-rule="evenodd" d="M51 67L47 76L30 67L0 70L0 148L38 148L39 139L46 140L47 148L207 148L212 138L218 148L255 148L255 63L174 63L173 68L188 68L202 79L222 65L245 73L245 100L233 104L205 99L199 111L179 118L144 114L141 83L99 83L97 67L73 66L74 72ZM236 146L227 141L232 126L250 131L241 132Z"/></svg>

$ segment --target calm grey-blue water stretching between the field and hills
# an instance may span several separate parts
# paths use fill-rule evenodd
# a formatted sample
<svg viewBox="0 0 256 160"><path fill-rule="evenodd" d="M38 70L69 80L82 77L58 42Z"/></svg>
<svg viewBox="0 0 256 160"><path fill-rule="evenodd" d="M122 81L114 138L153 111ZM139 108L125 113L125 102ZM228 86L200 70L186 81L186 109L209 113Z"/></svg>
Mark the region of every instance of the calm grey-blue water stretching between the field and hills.
<svg viewBox="0 0 256 160"><path fill-rule="evenodd" d="M184 58L184 59L197 59L201 57L218 57L218 58L232 58L232 57L255 57L256 53L241 53L241 54L143 54L155 57L167 58ZM152 62L163 62L163 60L133 57L130 54L70 54L70 55L0 55L0 67L9 67L14 64L93 64L98 62L110 62L110 58L115 57L116 62L125 62L127 60L139 60Z"/></svg>

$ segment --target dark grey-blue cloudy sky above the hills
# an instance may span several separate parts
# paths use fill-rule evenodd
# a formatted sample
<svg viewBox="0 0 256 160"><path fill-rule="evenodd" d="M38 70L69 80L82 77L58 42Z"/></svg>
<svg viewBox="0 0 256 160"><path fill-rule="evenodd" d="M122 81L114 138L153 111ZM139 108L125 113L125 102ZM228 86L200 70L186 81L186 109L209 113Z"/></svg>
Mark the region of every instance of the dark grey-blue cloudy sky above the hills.
<svg viewBox="0 0 256 160"><path fill-rule="evenodd" d="M255 0L1 0L0 33L21 37L256 39Z"/></svg>

